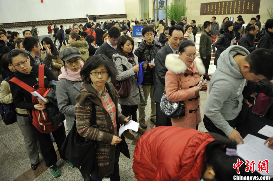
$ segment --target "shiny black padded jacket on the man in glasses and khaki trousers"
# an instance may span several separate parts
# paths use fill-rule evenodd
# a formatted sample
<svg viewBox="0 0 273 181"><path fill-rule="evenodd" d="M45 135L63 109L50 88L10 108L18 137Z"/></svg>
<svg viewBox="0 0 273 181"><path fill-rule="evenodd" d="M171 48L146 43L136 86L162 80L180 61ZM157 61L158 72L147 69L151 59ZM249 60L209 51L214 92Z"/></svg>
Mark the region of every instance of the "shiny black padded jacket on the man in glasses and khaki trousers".
<svg viewBox="0 0 273 181"><path fill-rule="evenodd" d="M134 54L138 57L139 64L143 61L148 61L146 72L144 72L143 82L141 83L142 85L154 85L155 68L150 68L149 63L155 58L155 54L161 47L161 44L156 41L153 41L152 45L148 45L146 41L143 40L134 51Z"/></svg>

